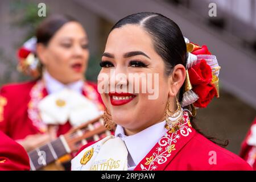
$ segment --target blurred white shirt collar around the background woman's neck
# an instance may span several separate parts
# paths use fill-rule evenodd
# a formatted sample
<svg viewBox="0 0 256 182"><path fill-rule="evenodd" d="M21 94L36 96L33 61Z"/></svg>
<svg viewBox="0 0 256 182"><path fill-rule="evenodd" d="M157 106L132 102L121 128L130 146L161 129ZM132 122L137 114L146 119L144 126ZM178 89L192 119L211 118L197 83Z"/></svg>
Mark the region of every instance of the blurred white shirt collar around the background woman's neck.
<svg viewBox="0 0 256 182"><path fill-rule="evenodd" d="M61 90L65 89L65 88L71 89L71 90L81 94L82 86L84 86L83 80L75 81L75 82L72 82L71 84L65 85L65 84L57 81L51 75L49 75L49 73L47 71L44 71L43 79L45 81L46 90L47 90L48 94L60 92Z"/></svg>

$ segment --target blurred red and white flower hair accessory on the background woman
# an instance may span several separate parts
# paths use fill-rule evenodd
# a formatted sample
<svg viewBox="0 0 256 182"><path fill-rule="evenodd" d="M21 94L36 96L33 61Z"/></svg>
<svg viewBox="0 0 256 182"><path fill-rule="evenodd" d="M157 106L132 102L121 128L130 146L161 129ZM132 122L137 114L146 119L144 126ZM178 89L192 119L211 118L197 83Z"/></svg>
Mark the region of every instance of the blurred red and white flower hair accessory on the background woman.
<svg viewBox="0 0 256 182"><path fill-rule="evenodd" d="M33 37L18 49L18 71L32 77L40 76L40 62L36 57L36 38Z"/></svg>

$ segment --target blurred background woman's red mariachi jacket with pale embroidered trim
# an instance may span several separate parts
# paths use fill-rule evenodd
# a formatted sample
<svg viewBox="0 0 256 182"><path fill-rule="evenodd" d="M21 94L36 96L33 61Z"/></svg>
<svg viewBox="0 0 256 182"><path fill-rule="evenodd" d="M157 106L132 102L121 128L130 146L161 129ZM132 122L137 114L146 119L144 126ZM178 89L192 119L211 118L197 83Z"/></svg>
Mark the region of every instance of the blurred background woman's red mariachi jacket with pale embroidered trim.
<svg viewBox="0 0 256 182"><path fill-rule="evenodd" d="M85 82L82 94L104 109L97 85ZM48 95L42 80L9 84L0 90L0 131L14 140L44 133L47 126L39 116L38 103ZM59 125L57 136L71 129L69 122Z"/></svg>

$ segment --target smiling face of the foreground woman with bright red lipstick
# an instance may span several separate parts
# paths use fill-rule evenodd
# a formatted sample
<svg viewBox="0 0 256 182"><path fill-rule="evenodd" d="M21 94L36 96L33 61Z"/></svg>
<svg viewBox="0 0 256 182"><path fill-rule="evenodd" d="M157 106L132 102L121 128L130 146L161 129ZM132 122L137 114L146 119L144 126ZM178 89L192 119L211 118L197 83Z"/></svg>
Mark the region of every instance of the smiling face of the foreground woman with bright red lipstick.
<svg viewBox="0 0 256 182"><path fill-rule="evenodd" d="M135 93L133 89L120 94L116 90L113 92L109 89L110 94L109 91L101 93L102 100L112 115L113 121L125 127L126 134L137 133L156 122L163 121L172 81L170 76L166 75L164 61L155 52L152 39L146 31L131 24L115 28L108 37L101 67L98 89L104 81L108 81L106 85L110 88L113 72L115 73L115 88L130 88L131 85L135 88L136 82L129 75L142 73L146 75L147 81L143 82L143 76L138 76L139 88L147 88L148 84L152 84L154 91L158 92L154 99L149 99L148 96L152 94L148 90L146 93L142 93L142 90ZM127 79L123 79L122 76L118 78L117 75L120 73L126 75ZM109 80L101 80L102 75L108 75ZM154 75L158 75L158 78L154 79Z"/></svg>

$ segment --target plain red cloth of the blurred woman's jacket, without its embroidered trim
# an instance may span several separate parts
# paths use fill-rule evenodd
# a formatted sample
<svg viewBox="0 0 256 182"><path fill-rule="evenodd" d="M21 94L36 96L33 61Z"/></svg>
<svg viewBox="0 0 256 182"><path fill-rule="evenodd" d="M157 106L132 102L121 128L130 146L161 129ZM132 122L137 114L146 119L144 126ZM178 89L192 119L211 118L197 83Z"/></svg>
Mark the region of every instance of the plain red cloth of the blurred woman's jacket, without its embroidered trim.
<svg viewBox="0 0 256 182"><path fill-rule="evenodd" d="M14 140L24 139L27 135L40 133L39 129L32 124L28 118L28 103L31 100L30 91L36 81L23 82L21 84L9 84L0 89L0 96L7 98L7 105L4 107L4 120L0 122L0 131ZM88 82L88 85L95 85ZM98 93L97 93L98 94ZM48 95L46 89L43 90L43 97ZM100 94L98 94L100 98ZM103 104L103 102L100 100ZM69 122L59 125L57 136L67 133L71 129Z"/></svg>

